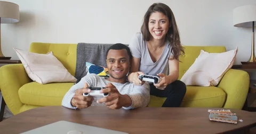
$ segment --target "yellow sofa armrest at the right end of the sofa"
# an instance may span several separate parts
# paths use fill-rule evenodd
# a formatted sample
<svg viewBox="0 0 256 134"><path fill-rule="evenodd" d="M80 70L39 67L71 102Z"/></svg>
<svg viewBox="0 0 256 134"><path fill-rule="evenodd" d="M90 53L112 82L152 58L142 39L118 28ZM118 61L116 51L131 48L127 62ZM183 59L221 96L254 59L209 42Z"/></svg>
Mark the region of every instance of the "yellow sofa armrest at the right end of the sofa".
<svg viewBox="0 0 256 134"><path fill-rule="evenodd" d="M223 108L242 109L249 90L250 77L244 70L229 69L218 87L227 94Z"/></svg>

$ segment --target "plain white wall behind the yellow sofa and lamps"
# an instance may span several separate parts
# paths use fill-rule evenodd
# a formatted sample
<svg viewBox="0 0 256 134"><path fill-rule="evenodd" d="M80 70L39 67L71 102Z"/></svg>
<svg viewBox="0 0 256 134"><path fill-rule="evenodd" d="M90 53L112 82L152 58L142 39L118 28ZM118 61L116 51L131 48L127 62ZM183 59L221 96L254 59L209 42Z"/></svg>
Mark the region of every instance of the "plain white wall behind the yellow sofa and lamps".
<svg viewBox="0 0 256 134"><path fill-rule="evenodd" d="M7 0L20 6L20 22L2 24L2 50L28 50L31 42L129 43L154 2L171 7L185 46L238 47L236 64L250 57L252 29L233 26L233 8L255 0Z"/></svg>

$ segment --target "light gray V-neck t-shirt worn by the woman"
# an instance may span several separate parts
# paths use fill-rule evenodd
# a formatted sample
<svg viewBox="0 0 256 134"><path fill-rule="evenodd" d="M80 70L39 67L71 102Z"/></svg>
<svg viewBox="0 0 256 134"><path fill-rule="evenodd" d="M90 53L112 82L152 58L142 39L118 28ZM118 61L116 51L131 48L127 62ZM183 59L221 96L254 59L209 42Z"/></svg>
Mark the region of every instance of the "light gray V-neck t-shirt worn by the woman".
<svg viewBox="0 0 256 134"><path fill-rule="evenodd" d="M143 35L141 33L136 33L133 36L129 44L129 48L131 49L133 57L140 58L139 72L154 76L159 73L168 75L168 58L172 56L171 45L169 42L165 43L163 53L156 62L153 62L151 59L148 51L147 41L143 39Z"/></svg>

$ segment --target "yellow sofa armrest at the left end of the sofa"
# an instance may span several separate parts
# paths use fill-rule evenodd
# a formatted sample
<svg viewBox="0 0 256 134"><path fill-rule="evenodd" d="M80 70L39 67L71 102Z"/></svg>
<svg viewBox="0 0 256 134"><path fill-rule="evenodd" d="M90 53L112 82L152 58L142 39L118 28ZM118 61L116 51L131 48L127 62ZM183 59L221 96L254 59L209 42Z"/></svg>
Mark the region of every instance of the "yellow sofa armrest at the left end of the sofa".
<svg viewBox="0 0 256 134"><path fill-rule="evenodd" d="M8 108L15 115L23 103L18 94L19 88L31 82L22 64L10 64L0 67L0 89Z"/></svg>

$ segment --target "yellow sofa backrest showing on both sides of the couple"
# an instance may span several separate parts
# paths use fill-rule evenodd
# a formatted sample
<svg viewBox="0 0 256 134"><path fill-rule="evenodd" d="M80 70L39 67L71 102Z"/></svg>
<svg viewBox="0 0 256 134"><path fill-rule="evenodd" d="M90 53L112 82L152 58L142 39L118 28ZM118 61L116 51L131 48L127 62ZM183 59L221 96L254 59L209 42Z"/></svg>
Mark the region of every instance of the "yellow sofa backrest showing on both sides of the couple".
<svg viewBox="0 0 256 134"><path fill-rule="evenodd" d="M186 73L189 67L194 63L196 58L199 56L200 51L204 50L207 52L220 53L225 52L224 46L184 46L185 55L180 56L179 65L179 79ZM47 53L52 51L53 55L60 60L65 66L68 72L75 76L76 69L76 48L77 43L39 43L33 42L30 45L30 52L36 53Z"/></svg>

